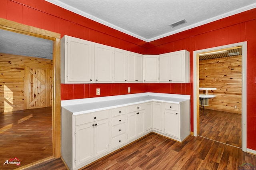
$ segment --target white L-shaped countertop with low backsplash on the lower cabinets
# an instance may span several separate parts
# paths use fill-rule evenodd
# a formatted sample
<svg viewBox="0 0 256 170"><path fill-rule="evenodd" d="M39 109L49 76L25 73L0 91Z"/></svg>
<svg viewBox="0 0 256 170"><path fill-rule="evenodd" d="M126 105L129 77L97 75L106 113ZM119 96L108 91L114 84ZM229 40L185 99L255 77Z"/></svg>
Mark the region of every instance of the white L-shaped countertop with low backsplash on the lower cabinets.
<svg viewBox="0 0 256 170"><path fill-rule="evenodd" d="M62 101L62 108L72 112L73 115L124 107L149 101L176 103L187 101L190 95L173 95L165 93L137 93L131 95L118 95L110 97L94 97L87 99L74 99Z"/></svg>

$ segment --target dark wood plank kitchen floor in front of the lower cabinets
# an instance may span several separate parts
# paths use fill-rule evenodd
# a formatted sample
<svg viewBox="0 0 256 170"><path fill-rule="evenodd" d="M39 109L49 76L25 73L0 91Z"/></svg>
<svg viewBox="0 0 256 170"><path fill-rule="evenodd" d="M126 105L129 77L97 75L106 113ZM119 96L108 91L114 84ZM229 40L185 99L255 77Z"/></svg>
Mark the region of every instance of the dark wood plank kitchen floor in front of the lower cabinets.
<svg viewBox="0 0 256 170"><path fill-rule="evenodd" d="M256 166L256 156L200 136L179 143L151 133L84 170L236 170L248 168L244 163ZM63 170L65 166L59 158L32 169Z"/></svg>

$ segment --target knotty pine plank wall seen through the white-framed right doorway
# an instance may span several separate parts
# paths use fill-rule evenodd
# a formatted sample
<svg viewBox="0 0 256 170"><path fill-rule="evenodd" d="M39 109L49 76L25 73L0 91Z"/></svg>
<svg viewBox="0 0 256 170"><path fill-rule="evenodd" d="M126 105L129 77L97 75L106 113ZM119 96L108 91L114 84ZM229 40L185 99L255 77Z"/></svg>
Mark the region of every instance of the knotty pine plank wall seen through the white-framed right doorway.
<svg viewBox="0 0 256 170"><path fill-rule="evenodd" d="M199 61L199 87L216 87L206 109L242 113L242 55ZM203 93L203 91L200 91ZM234 108L237 107L237 109Z"/></svg>

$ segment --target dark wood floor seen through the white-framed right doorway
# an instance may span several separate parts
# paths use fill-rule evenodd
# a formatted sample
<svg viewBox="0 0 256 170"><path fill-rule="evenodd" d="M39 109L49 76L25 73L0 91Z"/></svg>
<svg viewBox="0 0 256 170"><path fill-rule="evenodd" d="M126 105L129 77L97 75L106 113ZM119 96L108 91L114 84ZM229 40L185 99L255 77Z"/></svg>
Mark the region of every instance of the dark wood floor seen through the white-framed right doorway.
<svg viewBox="0 0 256 170"><path fill-rule="evenodd" d="M242 148L242 115L200 109L199 135Z"/></svg>

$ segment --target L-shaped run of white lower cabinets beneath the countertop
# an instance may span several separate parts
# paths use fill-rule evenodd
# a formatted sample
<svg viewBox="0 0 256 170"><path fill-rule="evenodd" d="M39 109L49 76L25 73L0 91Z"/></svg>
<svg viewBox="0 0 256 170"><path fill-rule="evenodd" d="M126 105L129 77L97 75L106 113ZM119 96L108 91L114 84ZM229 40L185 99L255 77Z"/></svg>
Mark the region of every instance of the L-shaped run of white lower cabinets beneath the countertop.
<svg viewBox="0 0 256 170"><path fill-rule="evenodd" d="M61 155L80 169L150 132L182 142L190 134L189 100L149 101L73 115L62 108Z"/></svg>

